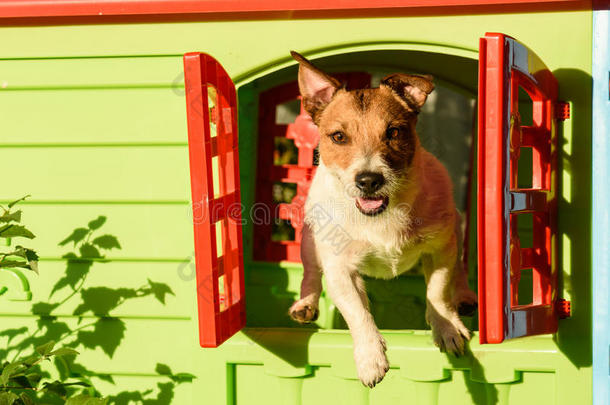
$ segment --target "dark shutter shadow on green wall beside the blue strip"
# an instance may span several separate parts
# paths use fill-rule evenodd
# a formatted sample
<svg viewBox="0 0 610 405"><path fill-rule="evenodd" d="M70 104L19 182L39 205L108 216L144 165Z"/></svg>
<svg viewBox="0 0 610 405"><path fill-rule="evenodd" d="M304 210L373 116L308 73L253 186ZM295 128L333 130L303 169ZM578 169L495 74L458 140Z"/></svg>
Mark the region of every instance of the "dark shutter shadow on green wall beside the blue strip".
<svg viewBox="0 0 610 405"><path fill-rule="evenodd" d="M591 76L577 69L553 72L570 118L559 126L559 288L572 316L559 322L555 340L576 367L591 366ZM563 130L570 126L567 140Z"/></svg>

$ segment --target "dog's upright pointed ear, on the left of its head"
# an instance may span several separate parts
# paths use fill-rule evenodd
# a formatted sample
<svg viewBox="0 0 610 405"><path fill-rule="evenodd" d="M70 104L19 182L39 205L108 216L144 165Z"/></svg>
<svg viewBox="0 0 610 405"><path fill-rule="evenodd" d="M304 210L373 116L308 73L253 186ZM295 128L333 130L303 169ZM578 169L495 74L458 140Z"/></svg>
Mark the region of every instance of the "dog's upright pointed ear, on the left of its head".
<svg viewBox="0 0 610 405"><path fill-rule="evenodd" d="M295 51L290 55L299 62L299 91L303 97L303 108L314 118L330 103L341 83L315 67Z"/></svg>

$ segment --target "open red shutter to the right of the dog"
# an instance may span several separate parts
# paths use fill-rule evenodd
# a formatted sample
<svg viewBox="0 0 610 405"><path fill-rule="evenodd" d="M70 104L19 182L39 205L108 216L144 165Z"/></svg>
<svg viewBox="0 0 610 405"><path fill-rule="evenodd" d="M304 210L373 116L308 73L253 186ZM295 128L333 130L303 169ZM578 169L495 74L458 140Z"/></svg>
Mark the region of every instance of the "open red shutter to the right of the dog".
<svg viewBox="0 0 610 405"><path fill-rule="evenodd" d="M519 88L531 98L532 125L521 125ZM557 296L557 80L538 56L503 34L479 51L478 244L481 343L553 333ZM559 105L563 107L563 105ZM522 147L532 148L531 188L518 188ZM533 245L522 248L517 216L531 214ZM533 302L519 305L523 269L532 269ZM523 291L522 291L523 292Z"/></svg>

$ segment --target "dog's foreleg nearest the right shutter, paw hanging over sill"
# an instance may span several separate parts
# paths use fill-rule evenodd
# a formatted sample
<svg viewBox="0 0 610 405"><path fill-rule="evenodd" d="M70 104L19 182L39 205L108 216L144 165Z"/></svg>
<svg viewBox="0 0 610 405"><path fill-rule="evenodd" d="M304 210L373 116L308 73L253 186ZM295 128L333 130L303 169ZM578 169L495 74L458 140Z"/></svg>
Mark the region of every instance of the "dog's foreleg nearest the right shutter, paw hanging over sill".
<svg viewBox="0 0 610 405"><path fill-rule="evenodd" d="M426 276L426 320L432 328L434 343L441 351L464 354L470 331L460 319L452 303L457 260L455 239L444 249L422 257Z"/></svg>

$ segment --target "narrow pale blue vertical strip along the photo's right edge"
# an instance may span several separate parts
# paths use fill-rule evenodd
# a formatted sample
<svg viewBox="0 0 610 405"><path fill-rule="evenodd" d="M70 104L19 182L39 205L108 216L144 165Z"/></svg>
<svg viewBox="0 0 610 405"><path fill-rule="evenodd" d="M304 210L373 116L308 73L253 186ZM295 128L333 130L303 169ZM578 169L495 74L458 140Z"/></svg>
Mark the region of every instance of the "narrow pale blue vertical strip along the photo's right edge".
<svg viewBox="0 0 610 405"><path fill-rule="evenodd" d="M593 404L610 403L610 12L593 12Z"/></svg>

